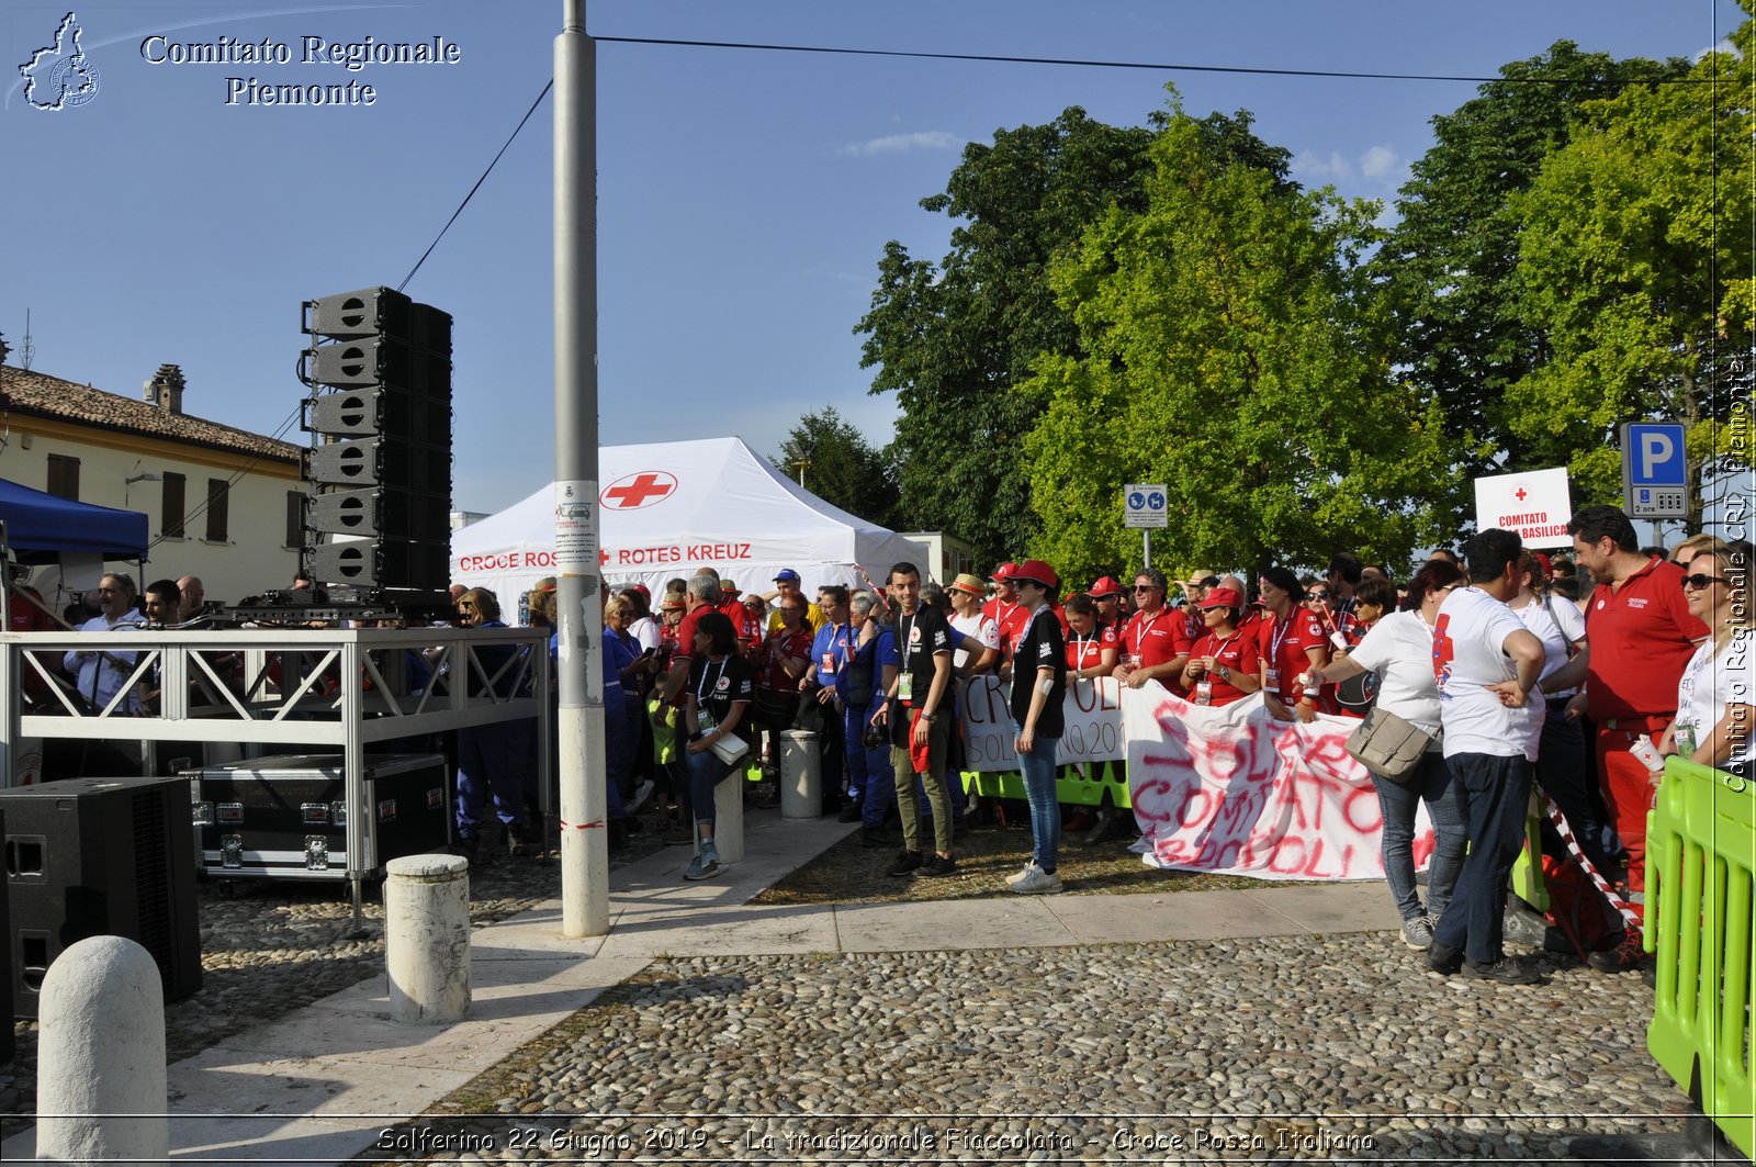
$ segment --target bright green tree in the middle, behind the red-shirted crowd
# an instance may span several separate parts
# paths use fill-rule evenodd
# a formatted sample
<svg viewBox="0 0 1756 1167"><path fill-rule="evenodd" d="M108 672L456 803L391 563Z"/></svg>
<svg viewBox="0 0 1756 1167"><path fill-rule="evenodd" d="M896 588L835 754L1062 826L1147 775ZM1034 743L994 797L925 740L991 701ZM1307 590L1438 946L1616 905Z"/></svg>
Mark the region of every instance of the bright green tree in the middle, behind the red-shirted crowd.
<svg viewBox="0 0 1756 1167"><path fill-rule="evenodd" d="M1048 402L1026 441L1033 550L1073 578L1134 561L1122 485L1166 482L1155 559L1407 555L1454 471L1436 404L1389 374L1359 262L1377 204L1215 156L1175 98L1159 123L1147 206L1110 209L1050 276L1080 355L1024 387Z"/></svg>

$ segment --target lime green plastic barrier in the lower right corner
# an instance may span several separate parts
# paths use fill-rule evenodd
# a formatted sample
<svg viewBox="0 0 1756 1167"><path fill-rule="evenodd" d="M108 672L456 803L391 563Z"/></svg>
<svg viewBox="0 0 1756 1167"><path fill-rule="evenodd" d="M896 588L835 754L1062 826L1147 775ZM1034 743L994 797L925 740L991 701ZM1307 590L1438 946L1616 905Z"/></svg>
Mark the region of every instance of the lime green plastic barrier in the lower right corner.
<svg viewBox="0 0 1756 1167"><path fill-rule="evenodd" d="M1658 954L1647 1049L1733 1146L1756 1156L1752 879L1752 784L1670 757L1647 814L1642 944Z"/></svg>

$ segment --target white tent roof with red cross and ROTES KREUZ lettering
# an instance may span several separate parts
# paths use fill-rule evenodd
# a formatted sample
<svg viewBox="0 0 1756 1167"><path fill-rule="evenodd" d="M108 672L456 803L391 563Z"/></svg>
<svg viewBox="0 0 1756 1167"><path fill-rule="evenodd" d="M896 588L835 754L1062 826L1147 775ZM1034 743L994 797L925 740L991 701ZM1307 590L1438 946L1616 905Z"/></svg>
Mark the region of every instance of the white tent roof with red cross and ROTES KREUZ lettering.
<svg viewBox="0 0 1756 1167"><path fill-rule="evenodd" d="M924 548L855 518L788 480L738 438L601 446L599 562L611 587L708 566L746 592L792 568L808 596L824 584L871 587L892 562L931 576ZM555 575L555 483L451 536L451 582L488 587L511 622L520 594Z"/></svg>

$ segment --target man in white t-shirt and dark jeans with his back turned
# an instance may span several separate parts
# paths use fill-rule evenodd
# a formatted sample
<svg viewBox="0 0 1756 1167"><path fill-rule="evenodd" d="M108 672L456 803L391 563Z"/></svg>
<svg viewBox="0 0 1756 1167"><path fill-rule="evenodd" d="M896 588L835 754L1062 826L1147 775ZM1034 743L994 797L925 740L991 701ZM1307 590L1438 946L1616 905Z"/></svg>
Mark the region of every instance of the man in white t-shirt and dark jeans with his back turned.
<svg viewBox="0 0 1756 1167"><path fill-rule="evenodd" d="M1524 548L1510 531L1489 529L1465 547L1470 585L1440 605L1433 626L1433 675L1445 765L1463 789L1470 856L1445 914L1433 926L1428 965L1500 984L1540 984L1507 958L1501 914L1507 877L1524 837L1531 763L1542 736L1542 641L1507 606L1519 589Z"/></svg>

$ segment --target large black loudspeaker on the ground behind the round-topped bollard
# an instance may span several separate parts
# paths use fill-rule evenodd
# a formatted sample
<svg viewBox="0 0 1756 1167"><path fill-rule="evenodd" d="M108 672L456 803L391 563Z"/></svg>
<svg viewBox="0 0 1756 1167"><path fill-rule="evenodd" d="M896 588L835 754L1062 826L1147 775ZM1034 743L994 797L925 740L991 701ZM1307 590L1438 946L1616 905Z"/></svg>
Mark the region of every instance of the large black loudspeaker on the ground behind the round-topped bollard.
<svg viewBox="0 0 1756 1167"><path fill-rule="evenodd" d="M65 779L0 791L12 1014L86 937L126 937L158 963L165 1000L202 988L186 779Z"/></svg>

